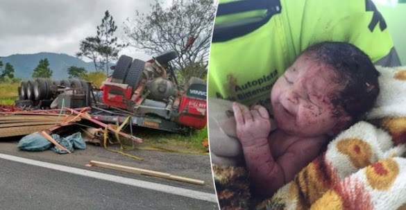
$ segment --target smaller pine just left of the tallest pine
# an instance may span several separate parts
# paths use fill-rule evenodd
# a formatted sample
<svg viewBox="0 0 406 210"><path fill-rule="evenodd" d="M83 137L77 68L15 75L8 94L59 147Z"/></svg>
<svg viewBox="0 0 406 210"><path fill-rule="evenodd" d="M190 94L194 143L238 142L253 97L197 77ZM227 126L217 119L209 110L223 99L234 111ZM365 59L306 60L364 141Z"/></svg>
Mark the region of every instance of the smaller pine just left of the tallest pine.
<svg viewBox="0 0 406 210"><path fill-rule="evenodd" d="M91 59L94 64L94 70L99 71L99 47L100 40L97 37L86 37L85 40L81 40L80 51L76 53L76 56L79 58L86 57Z"/></svg>

